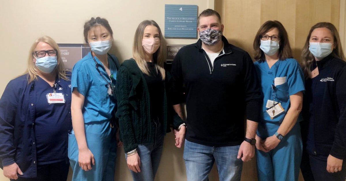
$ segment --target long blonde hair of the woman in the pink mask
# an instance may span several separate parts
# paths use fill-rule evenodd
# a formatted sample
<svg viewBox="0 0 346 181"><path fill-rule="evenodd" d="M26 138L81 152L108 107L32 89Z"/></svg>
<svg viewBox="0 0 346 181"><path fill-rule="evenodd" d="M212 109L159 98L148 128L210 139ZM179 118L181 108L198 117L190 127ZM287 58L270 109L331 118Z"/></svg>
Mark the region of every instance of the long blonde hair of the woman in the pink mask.
<svg viewBox="0 0 346 181"><path fill-rule="evenodd" d="M146 61L144 60L144 49L142 46L142 39L143 39L143 33L145 27L148 25L153 25L157 27L158 32L160 34L160 47L157 49L157 51L153 54L154 62L156 62L156 71L160 71L162 80L165 80L165 69L164 69L164 59L163 59L163 37L161 33L160 27L157 25L157 23L154 20L144 20L142 21L136 30L134 43L133 43L133 58L135 59L139 69L150 76L150 71L148 69L148 65L146 64Z"/></svg>

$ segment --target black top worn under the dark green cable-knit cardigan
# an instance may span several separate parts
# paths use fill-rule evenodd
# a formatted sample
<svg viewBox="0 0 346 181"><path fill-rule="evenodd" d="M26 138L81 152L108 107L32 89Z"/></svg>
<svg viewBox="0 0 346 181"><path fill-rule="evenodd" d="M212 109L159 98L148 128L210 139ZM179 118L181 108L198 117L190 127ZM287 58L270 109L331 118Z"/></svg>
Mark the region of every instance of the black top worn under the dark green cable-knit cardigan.
<svg viewBox="0 0 346 181"><path fill-rule="evenodd" d="M163 108L163 96L164 96L164 84L160 71L156 71L154 62L147 62L149 74L143 74L145 81L148 85L150 96L150 115L152 119L162 121L162 108Z"/></svg>

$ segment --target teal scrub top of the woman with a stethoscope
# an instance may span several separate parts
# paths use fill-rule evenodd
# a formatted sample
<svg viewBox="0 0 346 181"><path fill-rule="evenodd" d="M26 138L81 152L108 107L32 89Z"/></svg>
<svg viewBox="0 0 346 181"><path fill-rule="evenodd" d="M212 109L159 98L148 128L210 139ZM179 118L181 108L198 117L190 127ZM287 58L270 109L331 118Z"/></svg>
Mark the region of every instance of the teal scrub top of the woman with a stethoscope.
<svg viewBox="0 0 346 181"><path fill-rule="evenodd" d="M115 79L117 75L118 62L115 56L108 56L108 64L111 72L113 83L115 85ZM102 63L94 56L98 64ZM99 70L104 78L110 82L107 73L99 67ZM71 78L71 90L77 88L78 92L84 96L84 106L82 109L84 123L90 124L93 121L106 121L109 120L112 115L113 109L117 106L116 100L110 98L108 95L108 87L105 85L107 82L102 78L100 73L96 69L96 64L89 52L78 61L72 69ZM115 91L113 93L115 97Z"/></svg>

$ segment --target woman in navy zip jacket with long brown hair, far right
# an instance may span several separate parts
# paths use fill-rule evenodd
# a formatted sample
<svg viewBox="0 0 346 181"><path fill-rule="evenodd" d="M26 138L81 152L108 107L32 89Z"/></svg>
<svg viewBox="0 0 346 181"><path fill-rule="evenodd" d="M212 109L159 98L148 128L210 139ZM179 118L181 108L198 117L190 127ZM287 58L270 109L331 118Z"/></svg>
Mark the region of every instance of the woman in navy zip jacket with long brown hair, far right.
<svg viewBox="0 0 346 181"><path fill-rule="evenodd" d="M302 173L306 180L309 172L316 181L346 177L345 60L335 26L330 22L313 25L302 52L306 79L302 135L308 153Z"/></svg>

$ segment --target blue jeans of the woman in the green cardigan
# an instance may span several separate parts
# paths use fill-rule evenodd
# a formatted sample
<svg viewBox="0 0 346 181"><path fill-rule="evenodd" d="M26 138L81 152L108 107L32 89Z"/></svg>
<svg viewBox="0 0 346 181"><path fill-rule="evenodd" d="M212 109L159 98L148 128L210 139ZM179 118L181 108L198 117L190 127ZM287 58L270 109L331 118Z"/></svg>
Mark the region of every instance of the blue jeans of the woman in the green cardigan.
<svg viewBox="0 0 346 181"><path fill-rule="evenodd" d="M163 149L164 129L162 123L154 121L153 142L138 144L137 153L140 158L140 172L130 170L134 181L154 181ZM127 159L127 156L125 154Z"/></svg>

